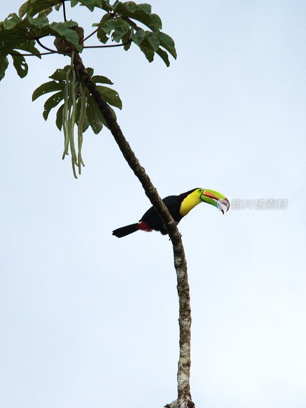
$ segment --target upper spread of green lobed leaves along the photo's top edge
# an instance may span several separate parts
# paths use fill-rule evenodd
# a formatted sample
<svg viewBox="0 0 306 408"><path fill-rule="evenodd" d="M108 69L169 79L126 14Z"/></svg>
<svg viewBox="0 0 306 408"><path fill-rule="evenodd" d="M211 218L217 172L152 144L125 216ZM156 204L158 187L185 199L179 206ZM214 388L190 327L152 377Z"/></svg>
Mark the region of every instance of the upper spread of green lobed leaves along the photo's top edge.
<svg viewBox="0 0 306 408"><path fill-rule="evenodd" d="M170 64L168 54L176 58L174 41L161 31L162 21L151 12L150 5L118 0L113 5L109 0L70 0L66 3L70 3L71 7L79 4L90 11L95 8L106 11L99 22L92 24L101 43L106 44L111 39L116 43L122 42L124 49L128 50L133 42L149 62L153 61L156 53L167 66ZM61 6L62 2L58 0L28 0L19 8L18 15L12 13L0 22L0 81L9 65L9 55L19 77L27 75L28 64L21 54L28 52L40 58L37 39L47 36L61 38L82 52L77 22L50 23L48 20L48 14L60 10Z"/></svg>

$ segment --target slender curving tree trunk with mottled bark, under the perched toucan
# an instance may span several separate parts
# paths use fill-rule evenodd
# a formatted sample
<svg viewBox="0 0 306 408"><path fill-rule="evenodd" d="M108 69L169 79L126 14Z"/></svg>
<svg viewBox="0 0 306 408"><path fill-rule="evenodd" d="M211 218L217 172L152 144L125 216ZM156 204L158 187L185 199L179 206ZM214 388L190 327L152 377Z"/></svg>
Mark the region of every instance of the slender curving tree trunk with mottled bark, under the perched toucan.
<svg viewBox="0 0 306 408"><path fill-rule="evenodd" d="M152 205L156 208L158 214L161 216L171 239L174 255L174 267L177 276L177 293L179 295L180 304L180 359L179 368L177 370L177 399L166 406L169 406L171 408L193 408L194 403L191 400L189 385L191 325L190 298L187 263L181 235L179 233L179 230L177 229L176 223L173 221L173 218L169 214L168 209L165 207L156 188L154 187L154 185L152 185L144 168L140 165L133 150L131 149L130 144L124 138L117 121L114 119L111 110L109 109L103 96L98 91L97 86L92 81L78 53L75 53L74 55L74 67L77 70L80 79L84 82L94 100L96 101L101 113L106 120L109 130L111 131L115 141L117 142L122 152L123 157L129 164L131 169L134 171L135 175L138 177L138 180L142 184L145 194L149 198Z"/></svg>

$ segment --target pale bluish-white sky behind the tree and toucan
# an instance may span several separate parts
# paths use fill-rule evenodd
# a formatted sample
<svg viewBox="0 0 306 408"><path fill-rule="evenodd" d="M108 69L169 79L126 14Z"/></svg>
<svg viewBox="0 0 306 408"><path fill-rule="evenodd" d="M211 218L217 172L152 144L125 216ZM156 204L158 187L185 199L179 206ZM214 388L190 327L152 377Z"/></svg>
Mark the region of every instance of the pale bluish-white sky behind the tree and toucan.
<svg viewBox="0 0 306 408"><path fill-rule="evenodd" d="M197 408L306 407L306 4L152 0L177 61L90 50L160 195L202 187L286 210L202 204L180 223ZM2 2L0 19L19 1ZM97 11L68 8L91 32ZM62 20L54 14L52 20ZM94 43L92 39L89 43ZM1 91L1 408L162 407L176 397L178 300L158 233L112 230L150 207L112 135L84 135L78 180L33 90L68 63L12 62Z"/></svg>

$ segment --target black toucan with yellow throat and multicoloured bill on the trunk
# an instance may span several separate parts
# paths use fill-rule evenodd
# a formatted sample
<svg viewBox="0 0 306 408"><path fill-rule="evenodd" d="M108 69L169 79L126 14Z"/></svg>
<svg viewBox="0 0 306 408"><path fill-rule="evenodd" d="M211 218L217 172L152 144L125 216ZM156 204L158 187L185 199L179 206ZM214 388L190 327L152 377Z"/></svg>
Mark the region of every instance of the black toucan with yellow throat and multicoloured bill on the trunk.
<svg viewBox="0 0 306 408"><path fill-rule="evenodd" d="M224 195L214 190L202 188L195 188L180 195L169 195L163 201L177 224L202 201L217 207L223 214L230 208L230 202ZM161 217L155 208L151 207L143 214L139 222L117 228L117 230L113 231L113 235L121 238L138 230L147 232L155 230L160 231L163 235L168 234Z"/></svg>

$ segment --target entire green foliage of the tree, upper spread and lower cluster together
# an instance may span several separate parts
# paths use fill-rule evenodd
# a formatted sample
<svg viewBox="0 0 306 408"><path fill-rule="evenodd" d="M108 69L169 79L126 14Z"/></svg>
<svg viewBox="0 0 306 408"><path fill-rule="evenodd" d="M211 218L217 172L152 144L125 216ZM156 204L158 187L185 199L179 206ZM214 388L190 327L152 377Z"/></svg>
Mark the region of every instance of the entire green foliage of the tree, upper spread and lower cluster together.
<svg viewBox="0 0 306 408"><path fill-rule="evenodd" d="M65 21L50 22L50 13L54 10L58 12L64 10L64 3L65 13L63 13L63 16L65 18L63 19ZM92 33L86 36L84 29L79 27L78 22L66 20L68 5L70 7L79 5L83 6L84 10L99 12L99 20L92 24ZM25 58L27 58L27 55L41 58L45 53L45 49L41 50L41 47L45 48L43 44L43 38L45 37L53 37L55 40L54 49L46 54L62 53L70 57L72 52L82 53L88 46L88 39L92 41L95 35L98 41L98 44L94 45L94 47L97 47L97 56L103 53L103 47L105 46L122 45L122 48L127 51L132 44L135 44L149 62L152 62L155 54L157 54L169 66L169 54L176 58L176 50L172 38L161 30L162 21L160 17L152 13L151 6L145 3L136 4L135 2L119 2L118 0L113 4L110 3L110 0L28 0L20 6L18 15L12 13L4 21L0 21L0 81L5 77L10 59L12 59L13 66L19 77L24 78L28 74L28 64ZM97 43L97 41L95 42ZM90 47L92 47L92 44L90 44ZM65 66L57 69L49 77L52 81L40 85L34 91L32 98L35 100L41 95L54 92L45 101L43 117L46 120L50 110L60 105L56 115L56 125L59 130L64 127L64 90L66 73L70 69L69 67ZM105 86L105 84L113 85L113 83L102 75L93 76L92 68L87 68L87 70L96 84L103 84L97 85L97 87L106 102L121 109L122 103L118 93ZM77 100L75 123L78 124L81 111L81 98L80 93L78 93L80 86L75 89L77 89L74 95ZM84 120L83 105L80 127L82 127L83 132L91 127L93 132L97 134L101 131L103 125L106 125L106 121L88 91L85 92L85 97L86 114ZM84 101L84 94L82 100ZM110 109L114 117L116 117L113 109L111 107Z"/></svg>

